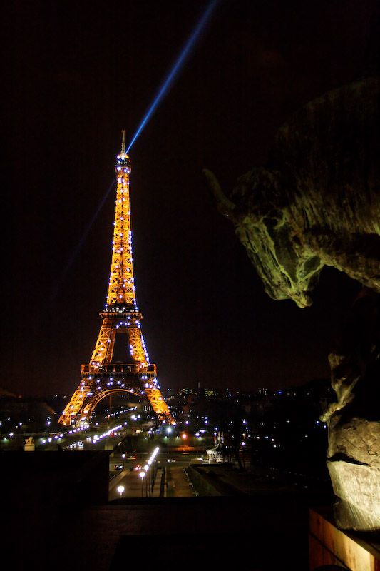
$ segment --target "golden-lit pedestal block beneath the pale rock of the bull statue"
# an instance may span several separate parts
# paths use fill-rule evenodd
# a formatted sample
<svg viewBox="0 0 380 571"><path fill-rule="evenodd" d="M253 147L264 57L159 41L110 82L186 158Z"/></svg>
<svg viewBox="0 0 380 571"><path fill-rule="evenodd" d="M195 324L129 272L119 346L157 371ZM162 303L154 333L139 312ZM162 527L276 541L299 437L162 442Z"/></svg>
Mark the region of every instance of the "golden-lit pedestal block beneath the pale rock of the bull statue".
<svg viewBox="0 0 380 571"><path fill-rule="evenodd" d="M349 571L380 571L380 534L339 530L332 508L309 510L309 571L337 565Z"/></svg>

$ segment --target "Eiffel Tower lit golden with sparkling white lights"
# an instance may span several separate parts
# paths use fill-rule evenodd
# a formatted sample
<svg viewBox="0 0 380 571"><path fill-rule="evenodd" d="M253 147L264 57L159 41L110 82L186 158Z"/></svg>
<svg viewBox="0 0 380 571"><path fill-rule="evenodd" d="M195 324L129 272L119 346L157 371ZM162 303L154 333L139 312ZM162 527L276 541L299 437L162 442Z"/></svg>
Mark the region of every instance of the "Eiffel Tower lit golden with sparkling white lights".
<svg viewBox="0 0 380 571"><path fill-rule="evenodd" d="M149 400L161 423L175 424L160 392L155 365L149 362L141 333L133 278L132 236L130 228L130 158L125 153L125 131L121 153L116 158L116 206L113 230L111 275L103 320L95 349L88 365L81 367L81 383L59 418L64 426L88 423L96 405L112 393L133 393ZM124 334L124 335L123 335ZM115 341L127 340L127 362L114 361Z"/></svg>

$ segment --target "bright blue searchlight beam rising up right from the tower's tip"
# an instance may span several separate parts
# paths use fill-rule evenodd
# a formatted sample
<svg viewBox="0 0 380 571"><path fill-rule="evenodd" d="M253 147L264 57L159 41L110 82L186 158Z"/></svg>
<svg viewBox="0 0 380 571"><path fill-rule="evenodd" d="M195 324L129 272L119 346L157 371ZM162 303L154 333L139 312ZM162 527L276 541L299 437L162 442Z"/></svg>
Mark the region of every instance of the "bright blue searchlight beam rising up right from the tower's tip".
<svg viewBox="0 0 380 571"><path fill-rule="evenodd" d="M195 41L197 41L197 38L200 36L202 29L205 27L205 25L207 24L207 21L210 19L210 16L211 16L212 12L214 11L215 6L216 6L218 1L219 0L212 0L210 2L210 4L207 6L207 8L205 9L205 12L202 15L200 21L198 22L195 30L192 32L192 34L190 35L190 38L188 39L185 46L183 47L183 50L181 51L180 56L178 57L178 59L173 64L167 78L165 79L162 86L158 90L158 94L155 96L153 103L150 105L150 107L148 108L148 111L145 113L145 117L143 118L143 121L141 121L140 125L138 126L138 130L135 132L135 134L132 138L132 141L130 141L129 146L128 146L127 150L125 151L127 154L130 150L130 147L135 142L136 138L138 138L141 131L143 131L143 128L145 127L146 123L148 123L150 117L152 116L153 112L155 111L155 108L158 106L158 103L160 103L163 96L167 93L168 89L173 84L173 81L175 80L175 76L178 75L178 72L180 71L181 67L183 66L183 64L185 62L185 59L188 57L192 47L194 46Z"/></svg>

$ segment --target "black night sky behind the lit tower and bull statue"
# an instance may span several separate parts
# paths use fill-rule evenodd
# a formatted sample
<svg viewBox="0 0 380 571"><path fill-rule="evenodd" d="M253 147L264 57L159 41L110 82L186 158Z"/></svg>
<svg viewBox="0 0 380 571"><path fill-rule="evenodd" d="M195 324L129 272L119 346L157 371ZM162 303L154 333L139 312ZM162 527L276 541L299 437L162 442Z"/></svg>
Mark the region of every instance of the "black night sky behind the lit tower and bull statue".
<svg viewBox="0 0 380 571"><path fill-rule="evenodd" d="M221 0L130 150L134 270L163 388L328 377L359 285L324 268L314 305L274 301L202 175L227 191L290 113L359 74L376 1ZM106 300L120 131L130 141L207 2L7 2L0 387L67 393Z"/></svg>

